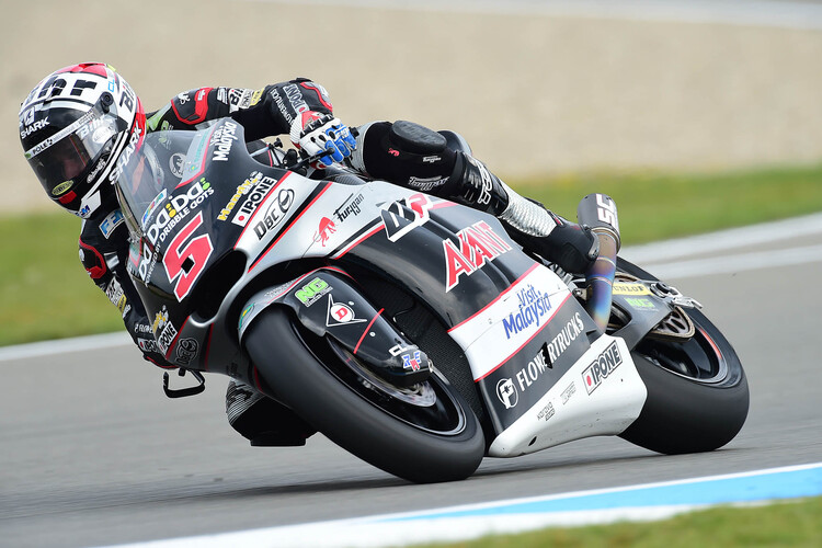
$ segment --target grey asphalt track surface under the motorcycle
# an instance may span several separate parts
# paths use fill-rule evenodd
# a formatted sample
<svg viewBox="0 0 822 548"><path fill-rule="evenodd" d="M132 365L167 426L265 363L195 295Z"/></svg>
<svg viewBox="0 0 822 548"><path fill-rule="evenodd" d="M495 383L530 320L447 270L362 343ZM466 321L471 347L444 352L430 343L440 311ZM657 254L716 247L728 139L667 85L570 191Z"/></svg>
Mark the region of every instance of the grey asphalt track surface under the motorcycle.
<svg viewBox="0 0 822 548"><path fill-rule="evenodd" d="M814 249L820 233L712 254ZM721 450L662 456L592 438L487 458L448 484L407 483L320 435L301 448L249 447L225 420L222 377L207 377L201 396L169 400L160 372L128 345L5 359L0 546L147 541L819 463L820 279L822 253L669 278L703 302L749 375L747 423Z"/></svg>

